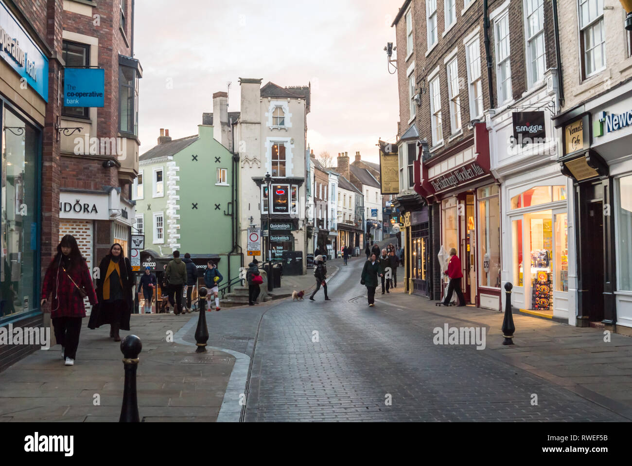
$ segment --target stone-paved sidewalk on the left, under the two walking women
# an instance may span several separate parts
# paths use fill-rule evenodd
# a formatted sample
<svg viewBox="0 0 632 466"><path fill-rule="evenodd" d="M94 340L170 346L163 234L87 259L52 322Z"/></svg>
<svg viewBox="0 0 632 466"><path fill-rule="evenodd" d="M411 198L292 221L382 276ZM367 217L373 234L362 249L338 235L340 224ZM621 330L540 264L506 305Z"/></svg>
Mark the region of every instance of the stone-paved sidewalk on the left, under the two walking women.
<svg viewBox="0 0 632 466"><path fill-rule="evenodd" d="M121 338L136 334L143 344L137 376L141 420L217 420L235 357L209 351L200 359L195 345L166 341L197 316L132 314L131 331L121 331ZM125 380L120 343L109 338L109 325L90 330L87 320L75 365L64 365L56 345L0 374L0 421L118 421Z"/></svg>

